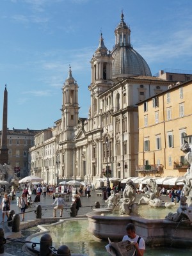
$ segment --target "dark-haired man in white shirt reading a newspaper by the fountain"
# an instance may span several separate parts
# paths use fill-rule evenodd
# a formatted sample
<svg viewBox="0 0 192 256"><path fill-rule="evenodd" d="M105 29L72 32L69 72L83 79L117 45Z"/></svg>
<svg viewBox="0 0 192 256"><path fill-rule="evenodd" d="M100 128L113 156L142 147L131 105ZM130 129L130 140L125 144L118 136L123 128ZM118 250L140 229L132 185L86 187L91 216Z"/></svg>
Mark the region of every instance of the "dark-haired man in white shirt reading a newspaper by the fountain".
<svg viewBox="0 0 192 256"><path fill-rule="evenodd" d="M127 235L123 237L122 241L129 240L134 243L136 254L134 256L143 256L145 252L145 241L142 237L136 235L135 227L132 223L126 226Z"/></svg>

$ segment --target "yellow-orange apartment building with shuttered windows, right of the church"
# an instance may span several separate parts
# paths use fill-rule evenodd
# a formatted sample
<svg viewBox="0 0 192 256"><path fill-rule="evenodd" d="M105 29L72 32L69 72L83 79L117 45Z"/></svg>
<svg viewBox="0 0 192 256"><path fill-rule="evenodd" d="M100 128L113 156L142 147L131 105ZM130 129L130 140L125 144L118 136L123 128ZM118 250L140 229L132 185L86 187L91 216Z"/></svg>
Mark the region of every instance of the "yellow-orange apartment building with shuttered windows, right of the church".
<svg viewBox="0 0 192 256"><path fill-rule="evenodd" d="M180 177L188 163L180 150L192 145L192 80L176 83L168 90L138 104L139 153L136 171L140 176Z"/></svg>

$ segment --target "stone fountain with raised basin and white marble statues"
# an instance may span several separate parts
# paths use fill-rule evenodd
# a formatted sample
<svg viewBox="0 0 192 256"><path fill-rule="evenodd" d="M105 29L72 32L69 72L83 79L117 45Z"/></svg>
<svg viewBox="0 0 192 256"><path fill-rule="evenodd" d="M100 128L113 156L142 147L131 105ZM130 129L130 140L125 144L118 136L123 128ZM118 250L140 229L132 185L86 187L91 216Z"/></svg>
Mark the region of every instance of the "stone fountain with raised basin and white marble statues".
<svg viewBox="0 0 192 256"><path fill-rule="evenodd" d="M183 193L185 196L181 196L177 212L168 213L164 219L148 220L141 218L137 214L138 207L134 202L136 189L131 182L128 182L123 198L111 209L108 209L113 212L119 209L120 216L106 216L106 213L100 214L97 209L94 209L93 212L87 214L89 231L100 239L108 239L109 237L111 241L120 241L125 234L127 223L133 223L137 234L145 239L148 246L170 246L170 237L172 237L173 247L192 248L192 152L188 143L185 143L181 149L186 153L185 158L191 164L191 168L184 175ZM148 207L164 206L171 208L175 205L175 203L163 204L157 195L157 186L151 179L148 183L148 191L141 198L140 204L144 200Z"/></svg>

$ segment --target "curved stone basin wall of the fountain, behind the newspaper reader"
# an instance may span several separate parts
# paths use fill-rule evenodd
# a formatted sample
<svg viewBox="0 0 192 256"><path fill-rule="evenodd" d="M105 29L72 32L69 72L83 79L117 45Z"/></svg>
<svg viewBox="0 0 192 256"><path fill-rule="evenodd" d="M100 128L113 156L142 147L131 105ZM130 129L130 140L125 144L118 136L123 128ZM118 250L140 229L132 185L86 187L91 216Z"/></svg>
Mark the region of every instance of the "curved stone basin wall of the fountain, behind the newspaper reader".
<svg viewBox="0 0 192 256"><path fill-rule="evenodd" d="M136 234L143 237L151 247L173 246L192 248L192 223L190 221L147 220L138 216L101 216L100 212L86 214L88 230L99 239L121 241L125 236L125 227L133 223Z"/></svg>

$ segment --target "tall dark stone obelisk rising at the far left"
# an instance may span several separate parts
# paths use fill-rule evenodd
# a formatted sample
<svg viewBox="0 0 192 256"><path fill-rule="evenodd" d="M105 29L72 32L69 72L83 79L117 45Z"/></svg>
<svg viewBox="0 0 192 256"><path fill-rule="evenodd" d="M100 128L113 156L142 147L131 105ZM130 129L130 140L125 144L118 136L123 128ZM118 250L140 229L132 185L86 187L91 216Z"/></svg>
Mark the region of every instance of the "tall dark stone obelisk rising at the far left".
<svg viewBox="0 0 192 256"><path fill-rule="evenodd" d="M7 105L8 105L8 92L6 84L4 88L3 99L3 128L1 132L1 148L0 148L0 164L8 164L8 148L7 148Z"/></svg>

